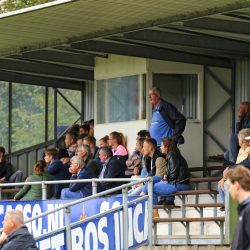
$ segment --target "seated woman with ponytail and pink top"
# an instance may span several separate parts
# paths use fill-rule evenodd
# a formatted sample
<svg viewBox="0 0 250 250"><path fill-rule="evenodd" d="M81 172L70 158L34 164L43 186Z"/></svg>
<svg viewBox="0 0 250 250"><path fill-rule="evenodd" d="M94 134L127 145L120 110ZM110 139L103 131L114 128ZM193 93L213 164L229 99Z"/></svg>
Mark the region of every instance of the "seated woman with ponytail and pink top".
<svg viewBox="0 0 250 250"><path fill-rule="evenodd" d="M124 169L126 169L127 166L125 163L128 159L128 151L125 148L124 135L116 131L109 134L109 146L112 147L113 156L120 161Z"/></svg>

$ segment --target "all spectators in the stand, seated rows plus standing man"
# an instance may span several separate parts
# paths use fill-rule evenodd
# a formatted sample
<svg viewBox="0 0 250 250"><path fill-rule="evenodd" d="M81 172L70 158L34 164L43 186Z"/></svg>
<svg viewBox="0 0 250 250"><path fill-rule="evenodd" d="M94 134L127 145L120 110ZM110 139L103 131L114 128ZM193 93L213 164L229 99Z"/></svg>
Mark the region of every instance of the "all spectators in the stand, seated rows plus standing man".
<svg viewBox="0 0 250 250"><path fill-rule="evenodd" d="M44 160L38 161L34 173L26 181L74 180L91 178L125 178L126 170L133 170L132 178L153 176L154 204L174 205L174 196L158 201L158 195L169 195L189 188L188 164L181 155L179 145L184 143L183 132L186 118L171 104L161 98L161 90L149 90L153 106L150 131L137 133L135 150L128 155L125 136L114 131L99 140L94 137L94 120L71 126L65 135L66 149L47 148ZM230 151L225 158L231 165L224 171L218 189L225 202L224 183L229 169L237 165L250 168L250 103L241 103L238 110L237 133L230 135ZM22 172L14 174L5 158L5 149L0 147L0 183L22 181ZM129 176L131 177L131 175ZM100 182L98 191L117 187L121 182ZM49 185L47 197L51 199L82 198L92 194L91 183ZM116 192L118 195L121 191ZM147 194L147 183L133 186L128 195ZM41 189L24 186L15 195L15 200L41 199ZM222 208L223 210L223 208ZM154 212L158 216L158 212Z"/></svg>

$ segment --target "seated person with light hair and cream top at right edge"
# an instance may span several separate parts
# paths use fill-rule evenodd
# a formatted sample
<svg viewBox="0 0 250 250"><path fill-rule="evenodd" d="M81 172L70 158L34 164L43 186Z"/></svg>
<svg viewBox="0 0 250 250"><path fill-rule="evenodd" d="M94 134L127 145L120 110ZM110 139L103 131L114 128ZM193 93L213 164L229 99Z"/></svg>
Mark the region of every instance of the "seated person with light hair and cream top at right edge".
<svg viewBox="0 0 250 250"><path fill-rule="evenodd" d="M250 154L250 146L249 146L250 140L245 139L248 136L250 136L250 129L249 128L242 129L238 133L240 151L239 151L239 154L237 156L236 164L239 164L240 162L244 161L248 157L248 155ZM223 174L223 178L218 183L218 191L219 191L222 203L225 203L224 184L225 184L226 178L224 176L226 175L227 169L225 170L225 172ZM220 210L225 211L225 208L222 207Z"/></svg>

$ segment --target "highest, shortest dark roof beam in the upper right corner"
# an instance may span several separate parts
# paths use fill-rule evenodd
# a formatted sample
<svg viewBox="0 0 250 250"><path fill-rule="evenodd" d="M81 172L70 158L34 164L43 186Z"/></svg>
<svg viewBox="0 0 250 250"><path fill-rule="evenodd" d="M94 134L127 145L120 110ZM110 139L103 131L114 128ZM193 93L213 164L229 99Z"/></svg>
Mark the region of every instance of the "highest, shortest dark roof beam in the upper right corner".
<svg viewBox="0 0 250 250"><path fill-rule="evenodd" d="M185 21L183 22L183 26L250 35L250 22L205 17Z"/></svg>

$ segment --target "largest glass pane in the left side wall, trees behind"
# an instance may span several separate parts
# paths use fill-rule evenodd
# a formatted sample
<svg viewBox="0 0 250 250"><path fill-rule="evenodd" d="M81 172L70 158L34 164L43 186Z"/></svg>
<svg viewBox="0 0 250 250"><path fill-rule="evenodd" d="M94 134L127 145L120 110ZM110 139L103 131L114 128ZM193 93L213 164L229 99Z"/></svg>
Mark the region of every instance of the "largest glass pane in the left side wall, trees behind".
<svg viewBox="0 0 250 250"><path fill-rule="evenodd" d="M45 138L45 87L12 83L11 151Z"/></svg>

